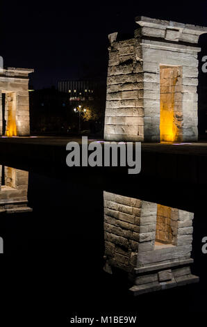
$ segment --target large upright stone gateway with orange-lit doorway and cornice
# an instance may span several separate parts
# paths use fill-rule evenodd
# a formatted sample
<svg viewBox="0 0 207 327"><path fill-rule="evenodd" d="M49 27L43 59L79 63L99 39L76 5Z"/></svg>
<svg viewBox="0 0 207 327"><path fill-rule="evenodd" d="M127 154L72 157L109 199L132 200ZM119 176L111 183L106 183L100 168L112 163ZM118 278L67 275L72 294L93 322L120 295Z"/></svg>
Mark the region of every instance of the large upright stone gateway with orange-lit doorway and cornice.
<svg viewBox="0 0 207 327"><path fill-rule="evenodd" d="M207 27L136 17L110 40L106 141L197 141L197 46Z"/></svg>

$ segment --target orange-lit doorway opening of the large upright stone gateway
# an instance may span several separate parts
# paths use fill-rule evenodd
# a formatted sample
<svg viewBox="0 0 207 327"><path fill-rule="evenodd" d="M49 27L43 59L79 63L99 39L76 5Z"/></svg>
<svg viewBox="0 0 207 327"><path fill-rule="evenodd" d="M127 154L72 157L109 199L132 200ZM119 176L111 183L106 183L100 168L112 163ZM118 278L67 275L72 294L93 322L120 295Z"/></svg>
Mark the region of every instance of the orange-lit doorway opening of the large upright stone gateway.
<svg viewBox="0 0 207 327"><path fill-rule="evenodd" d="M160 142L182 141L182 67L160 65Z"/></svg>

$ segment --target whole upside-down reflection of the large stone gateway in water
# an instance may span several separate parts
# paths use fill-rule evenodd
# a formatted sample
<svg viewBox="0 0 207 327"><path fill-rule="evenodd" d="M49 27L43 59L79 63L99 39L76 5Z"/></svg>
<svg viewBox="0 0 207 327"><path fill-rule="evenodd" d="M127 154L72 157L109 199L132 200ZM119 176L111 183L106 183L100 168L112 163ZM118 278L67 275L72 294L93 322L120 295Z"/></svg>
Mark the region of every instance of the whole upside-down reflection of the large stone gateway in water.
<svg viewBox="0 0 207 327"><path fill-rule="evenodd" d="M134 295L197 282L194 214L104 191L105 270L129 273Z"/></svg>

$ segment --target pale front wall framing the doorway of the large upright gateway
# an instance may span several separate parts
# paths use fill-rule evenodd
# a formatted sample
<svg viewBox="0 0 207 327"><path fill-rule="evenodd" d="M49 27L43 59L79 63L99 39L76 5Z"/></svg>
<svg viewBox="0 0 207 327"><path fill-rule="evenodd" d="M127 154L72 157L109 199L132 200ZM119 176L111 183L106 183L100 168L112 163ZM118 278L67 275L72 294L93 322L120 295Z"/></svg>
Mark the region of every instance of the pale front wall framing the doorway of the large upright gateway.
<svg viewBox="0 0 207 327"><path fill-rule="evenodd" d="M146 65L151 64L144 72L144 90L149 91L144 97L144 141L197 141L197 51L190 46L173 47L164 42L154 44L150 40L143 42L142 60ZM163 65L182 67L182 97L176 102L181 125L173 140L160 140L160 66Z"/></svg>

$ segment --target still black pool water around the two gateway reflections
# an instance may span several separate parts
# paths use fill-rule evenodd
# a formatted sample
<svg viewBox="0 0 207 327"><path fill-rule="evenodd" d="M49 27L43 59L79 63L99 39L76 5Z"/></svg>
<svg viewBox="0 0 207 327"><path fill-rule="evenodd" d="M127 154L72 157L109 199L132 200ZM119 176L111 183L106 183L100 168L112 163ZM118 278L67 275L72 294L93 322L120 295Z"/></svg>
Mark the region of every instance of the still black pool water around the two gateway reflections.
<svg viewBox="0 0 207 327"><path fill-rule="evenodd" d="M137 315L141 322L156 321L160 312L183 318L206 312L207 255L201 252L206 199L189 201L183 199L194 208L192 273L199 284L133 297L125 275L103 271L103 190L29 172L33 212L0 216L1 319L8 326L68 326L75 315Z"/></svg>

